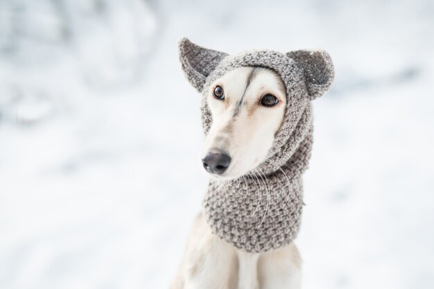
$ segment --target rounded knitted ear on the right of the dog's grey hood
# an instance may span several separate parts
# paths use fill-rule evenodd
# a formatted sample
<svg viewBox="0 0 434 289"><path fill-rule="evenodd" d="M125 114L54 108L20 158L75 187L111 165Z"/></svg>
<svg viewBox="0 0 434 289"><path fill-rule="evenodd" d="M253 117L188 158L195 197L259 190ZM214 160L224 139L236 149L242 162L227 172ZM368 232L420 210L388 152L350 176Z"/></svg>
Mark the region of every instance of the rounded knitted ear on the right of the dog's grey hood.
<svg viewBox="0 0 434 289"><path fill-rule="evenodd" d="M290 51L287 55L303 69L311 100L322 96L329 89L335 74L329 53L321 50L299 50Z"/></svg>

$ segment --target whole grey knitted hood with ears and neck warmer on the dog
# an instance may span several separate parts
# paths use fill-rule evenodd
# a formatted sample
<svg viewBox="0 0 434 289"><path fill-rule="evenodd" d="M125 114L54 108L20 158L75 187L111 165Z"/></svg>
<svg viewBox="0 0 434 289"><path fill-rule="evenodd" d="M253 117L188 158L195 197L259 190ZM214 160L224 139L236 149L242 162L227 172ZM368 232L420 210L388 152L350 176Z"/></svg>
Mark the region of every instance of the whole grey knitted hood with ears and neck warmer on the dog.
<svg viewBox="0 0 434 289"><path fill-rule="evenodd" d="M180 61L187 80L202 93L202 127L211 127L210 85L237 67L265 67L284 82L287 105L266 161L232 181L211 180L203 207L214 234L246 252L266 252L297 236L302 213L302 174L312 148L311 100L331 86L334 70L324 51L246 51L228 55L183 38Z"/></svg>

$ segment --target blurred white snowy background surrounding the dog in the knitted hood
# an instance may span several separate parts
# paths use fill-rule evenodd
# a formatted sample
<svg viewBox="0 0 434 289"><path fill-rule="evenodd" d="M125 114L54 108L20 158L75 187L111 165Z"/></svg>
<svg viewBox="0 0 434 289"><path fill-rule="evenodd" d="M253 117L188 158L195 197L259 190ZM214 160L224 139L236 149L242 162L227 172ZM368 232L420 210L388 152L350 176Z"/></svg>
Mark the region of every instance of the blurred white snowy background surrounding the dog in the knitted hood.
<svg viewBox="0 0 434 289"><path fill-rule="evenodd" d="M434 288L434 2L0 0L0 288L168 288L207 186L177 40L322 48L304 288Z"/></svg>

